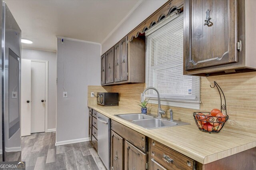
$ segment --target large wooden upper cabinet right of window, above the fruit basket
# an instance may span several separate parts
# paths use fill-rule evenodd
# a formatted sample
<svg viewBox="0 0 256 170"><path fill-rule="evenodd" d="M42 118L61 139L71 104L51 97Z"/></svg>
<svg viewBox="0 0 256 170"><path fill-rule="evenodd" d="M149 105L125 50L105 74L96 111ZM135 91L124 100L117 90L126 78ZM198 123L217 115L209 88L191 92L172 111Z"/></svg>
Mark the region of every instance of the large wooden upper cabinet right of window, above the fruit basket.
<svg viewBox="0 0 256 170"><path fill-rule="evenodd" d="M245 0L184 0L183 74L256 71L253 5Z"/></svg>

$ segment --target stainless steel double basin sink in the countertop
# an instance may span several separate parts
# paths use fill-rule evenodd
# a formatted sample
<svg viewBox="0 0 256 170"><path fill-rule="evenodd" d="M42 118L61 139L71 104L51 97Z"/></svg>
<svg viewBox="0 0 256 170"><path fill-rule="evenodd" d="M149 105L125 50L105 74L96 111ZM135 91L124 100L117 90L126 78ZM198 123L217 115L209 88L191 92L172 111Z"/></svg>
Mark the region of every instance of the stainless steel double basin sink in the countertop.
<svg viewBox="0 0 256 170"><path fill-rule="evenodd" d="M167 119L161 119L152 115L144 115L140 113L123 114L116 116L146 129L189 125L189 123L185 123L182 121L168 121Z"/></svg>

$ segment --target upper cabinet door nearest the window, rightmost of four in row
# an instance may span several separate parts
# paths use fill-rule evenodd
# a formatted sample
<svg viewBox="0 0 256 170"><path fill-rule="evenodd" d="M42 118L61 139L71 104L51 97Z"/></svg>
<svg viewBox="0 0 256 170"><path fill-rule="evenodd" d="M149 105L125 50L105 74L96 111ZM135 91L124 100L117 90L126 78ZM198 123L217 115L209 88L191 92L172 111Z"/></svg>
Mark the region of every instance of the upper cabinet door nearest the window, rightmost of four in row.
<svg viewBox="0 0 256 170"><path fill-rule="evenodd" d="M125 81L127 80L127 67L128 67L128 59L127 59L127 37L124 38L120 42L121 46L121 75L120 75L120 81Z"/></svg>

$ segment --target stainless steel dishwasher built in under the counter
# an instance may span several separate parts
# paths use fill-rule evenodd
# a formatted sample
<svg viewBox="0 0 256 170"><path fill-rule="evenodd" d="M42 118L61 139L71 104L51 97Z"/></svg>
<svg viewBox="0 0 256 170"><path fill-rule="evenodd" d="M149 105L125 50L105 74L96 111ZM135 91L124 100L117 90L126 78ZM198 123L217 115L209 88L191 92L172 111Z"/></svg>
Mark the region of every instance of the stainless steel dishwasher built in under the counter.
<svg viewBox="0 0 256 170"><path fill-rule="evenodd" d="M98 155L110 170L110 119L98 113Z"/></svg>

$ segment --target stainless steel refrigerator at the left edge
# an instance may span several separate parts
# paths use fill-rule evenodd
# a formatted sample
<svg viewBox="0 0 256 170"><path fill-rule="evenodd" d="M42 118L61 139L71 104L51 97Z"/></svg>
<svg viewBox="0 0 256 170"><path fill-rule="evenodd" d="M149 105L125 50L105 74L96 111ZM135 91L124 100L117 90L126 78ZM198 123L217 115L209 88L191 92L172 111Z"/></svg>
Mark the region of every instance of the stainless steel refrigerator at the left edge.
<svg viewBox="0 0 256 170"><path fill-rule="evenodd" d="M0 161L21 161L20 136L20 55L21 30L5 2L0 6L0 70L2 126Z"/></svg>

